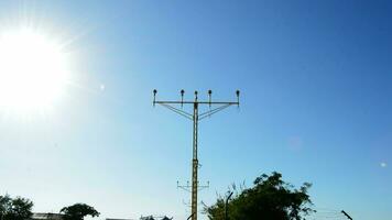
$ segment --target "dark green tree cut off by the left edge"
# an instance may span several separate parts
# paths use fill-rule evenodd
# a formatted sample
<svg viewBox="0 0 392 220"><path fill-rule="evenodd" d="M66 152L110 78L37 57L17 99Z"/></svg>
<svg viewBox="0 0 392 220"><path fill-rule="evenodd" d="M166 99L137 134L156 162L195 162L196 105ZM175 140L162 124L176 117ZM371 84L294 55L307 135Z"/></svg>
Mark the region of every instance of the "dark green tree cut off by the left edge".
<svg viewBox="0 0 392 220"><path fill-rule="evenodd" d="M9 195L0 196L1 220L25 220L32 213L33 202L29 199L17 197L12 199Z"/></svg>

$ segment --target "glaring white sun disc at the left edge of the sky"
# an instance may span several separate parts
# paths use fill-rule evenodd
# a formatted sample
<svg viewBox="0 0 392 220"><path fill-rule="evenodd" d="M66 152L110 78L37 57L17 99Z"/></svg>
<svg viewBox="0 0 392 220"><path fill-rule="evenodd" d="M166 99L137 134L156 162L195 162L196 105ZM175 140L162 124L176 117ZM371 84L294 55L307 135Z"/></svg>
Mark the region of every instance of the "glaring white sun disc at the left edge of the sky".
<svg viewBox="0 0 392 220"><path fill-rule="evenodd" d="M43 109L67 81L59 44L31 30L0 33L0 108Z"/></svg>

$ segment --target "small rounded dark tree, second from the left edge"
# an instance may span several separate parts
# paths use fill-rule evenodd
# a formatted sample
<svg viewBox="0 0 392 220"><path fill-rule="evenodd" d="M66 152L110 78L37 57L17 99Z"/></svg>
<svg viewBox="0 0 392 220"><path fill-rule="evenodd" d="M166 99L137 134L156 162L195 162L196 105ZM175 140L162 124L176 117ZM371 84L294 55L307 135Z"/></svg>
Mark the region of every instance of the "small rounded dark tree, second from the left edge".
<svg viewBox="0 0 392 220"><path fill-rule="evenodd" d="M75 204L59 210L64 213L64 220L83 220L86 216L99 217L99 212L86 204Z"/></svg>

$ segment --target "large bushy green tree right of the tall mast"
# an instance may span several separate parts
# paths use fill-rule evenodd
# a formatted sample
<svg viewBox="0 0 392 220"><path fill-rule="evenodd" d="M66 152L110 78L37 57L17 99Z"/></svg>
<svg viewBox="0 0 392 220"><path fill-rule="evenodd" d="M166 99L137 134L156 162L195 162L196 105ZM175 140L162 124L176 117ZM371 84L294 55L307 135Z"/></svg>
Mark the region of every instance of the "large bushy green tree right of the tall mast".
<svg viewBox="0 0 392 220"><path fill-rule="evenodd" d="M228 204L230 220L302 220L303 216L313 210L307 194L312 186L305 183L300 189L282 180L282 175L274 172L255 178L252 188L237 191ZM236 186L233 185L233 190ZM225 219L226 201L219 197L217 202L207 207L205 211L210 220Z"/></svg>

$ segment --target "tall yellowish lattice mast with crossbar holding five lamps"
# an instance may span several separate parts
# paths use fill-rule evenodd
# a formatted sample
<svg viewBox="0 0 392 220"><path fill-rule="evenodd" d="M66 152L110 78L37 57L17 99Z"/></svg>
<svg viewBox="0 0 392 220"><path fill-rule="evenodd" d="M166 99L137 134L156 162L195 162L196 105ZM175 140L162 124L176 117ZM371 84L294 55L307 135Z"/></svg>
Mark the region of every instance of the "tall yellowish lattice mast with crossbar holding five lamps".
<svg viewBox="0 0 392 220"><path fill-rule="evenodd" d="M182 117L185 117L193 121L193 157L192 157L192 199L190 207L192 220L197 220L197 191L198 191L198 158L197 158L197 135L198 135L198 122L211 114L215 114L230 106L239 106L240 91L236 91L237 101L211 101L213 91L208 90L208 101L199 101L197 97L197 91L195 91L195 99L193 101L184 101L184 89L181 90L181 100L179 101L157 101L156 100L156 89L153 90L154 100L153 106L161 105L175 113L178 113ZM182 108L184 105L190 105L193 107L193 112L186 112ZM181 109L177 107L181 106ZM206 112L199 113L199 106L208 106L209 109ZM211 107L214 108L211 109Z"/></svg>

